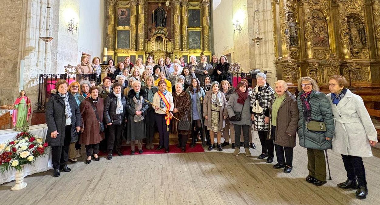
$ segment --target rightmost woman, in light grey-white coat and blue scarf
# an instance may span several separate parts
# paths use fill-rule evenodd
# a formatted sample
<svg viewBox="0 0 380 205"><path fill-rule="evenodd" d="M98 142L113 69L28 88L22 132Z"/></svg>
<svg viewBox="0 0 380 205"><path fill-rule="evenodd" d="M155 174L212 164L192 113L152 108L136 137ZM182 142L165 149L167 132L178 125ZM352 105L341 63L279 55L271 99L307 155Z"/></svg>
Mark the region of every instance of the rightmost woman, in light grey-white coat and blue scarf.
<svg viewBox="0 0 380 205"><path fill-rule="evenodd" d="M365 199L368 189L362 157L372 157L371 145L374 146L377 142L377 132L363 99L346 87L347 80L344 76L334 75L329 78L331 93L327 97L335 121L332 151L342 156L347 172L347 181L339 183L338 187L358 189L356 197Z"/></svg>

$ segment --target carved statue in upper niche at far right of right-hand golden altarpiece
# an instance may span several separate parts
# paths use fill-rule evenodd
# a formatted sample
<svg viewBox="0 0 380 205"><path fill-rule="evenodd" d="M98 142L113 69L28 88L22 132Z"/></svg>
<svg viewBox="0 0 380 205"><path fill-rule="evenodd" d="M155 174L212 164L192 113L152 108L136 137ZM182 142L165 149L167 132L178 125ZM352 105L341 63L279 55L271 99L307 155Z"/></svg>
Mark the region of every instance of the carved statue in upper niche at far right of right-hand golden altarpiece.
<svg viewBox="0 0 380 205"><path fill-rule="evenodd" d="M367 39L364 24L361 23L358 18L350 18L347 21L347 26L350 31L350 47L357 48L365 46Z"/></svg>

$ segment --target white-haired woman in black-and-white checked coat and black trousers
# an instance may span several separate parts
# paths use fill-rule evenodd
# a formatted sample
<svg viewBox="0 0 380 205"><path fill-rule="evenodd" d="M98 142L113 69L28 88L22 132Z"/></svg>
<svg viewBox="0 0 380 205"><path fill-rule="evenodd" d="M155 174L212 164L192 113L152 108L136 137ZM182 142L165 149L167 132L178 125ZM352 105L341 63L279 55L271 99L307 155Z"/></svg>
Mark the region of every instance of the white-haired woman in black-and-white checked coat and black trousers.
<svg viewBox="0 0 380 205"><path fill-rule="evenodd" d="M265 113L269 115L269 103L271 103L274 91L271 86L266 82L265 73L257 73L256 75L257 85L252 91L251 107L252 107L252 120L257 129L260 143L261 154L258 159L266 159L267 163L273 162L274 157L274 144L273 139L267 140L267 134L269 129L269 117L265 116Z"/></svg>

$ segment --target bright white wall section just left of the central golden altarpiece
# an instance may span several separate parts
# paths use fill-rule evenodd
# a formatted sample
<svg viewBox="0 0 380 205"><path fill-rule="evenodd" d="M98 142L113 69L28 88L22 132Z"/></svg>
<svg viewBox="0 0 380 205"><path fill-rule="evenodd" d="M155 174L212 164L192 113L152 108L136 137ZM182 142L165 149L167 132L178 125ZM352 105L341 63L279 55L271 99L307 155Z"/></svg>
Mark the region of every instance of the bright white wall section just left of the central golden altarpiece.
<svg viewBox="0 0 380 205"><path fill-rule="evenodd" d="M103 46L105 42L105 0L80 0L79 5L79 50L78 62L82 52L91 57L98 56L103 59Z"/></svg>

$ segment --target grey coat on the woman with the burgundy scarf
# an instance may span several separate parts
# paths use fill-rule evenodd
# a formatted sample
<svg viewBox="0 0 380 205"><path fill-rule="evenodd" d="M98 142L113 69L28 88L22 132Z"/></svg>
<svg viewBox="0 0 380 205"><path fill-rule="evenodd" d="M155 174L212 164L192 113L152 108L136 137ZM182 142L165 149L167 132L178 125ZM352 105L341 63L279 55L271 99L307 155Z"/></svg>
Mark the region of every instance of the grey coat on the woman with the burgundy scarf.
<svg viewBox="0 0 380 205"><path fill-rule="evenodd" d="M236 92L234 92L230 99L228 100L227 104L227 111L228 116L231 118L232 116L235 116L234 112L242 113L241 114L241 121L231 121L232 124L236 125L247 125L252 126L252 120L251 120L251 112L250 112L250 100L251 96L248 95L247 99L244 101L244 107L242 104L237 103L237 99L239 98L239 95L237 95ZM241 110L243 108L243 111Z"/></svg>

